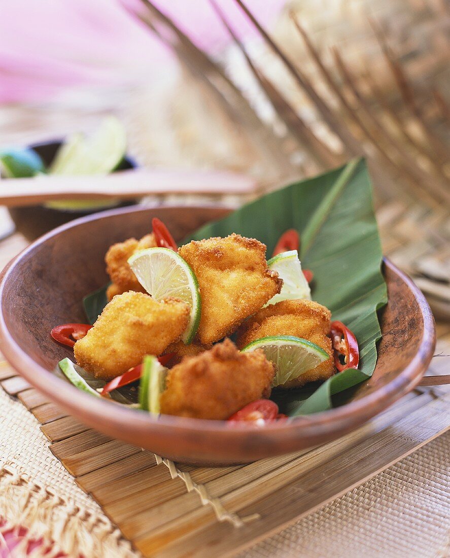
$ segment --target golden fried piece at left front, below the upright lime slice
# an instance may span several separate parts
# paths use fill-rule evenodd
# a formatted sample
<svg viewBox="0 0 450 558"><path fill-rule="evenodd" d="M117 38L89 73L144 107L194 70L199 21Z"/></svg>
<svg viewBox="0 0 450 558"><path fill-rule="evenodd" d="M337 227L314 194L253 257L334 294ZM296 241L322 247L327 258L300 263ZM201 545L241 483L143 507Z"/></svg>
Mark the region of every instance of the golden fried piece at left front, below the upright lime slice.
<svg viewBox="0 0 450 558"><path fill-rule="evenodd" d="M110 380L160 355L180 338L189 322L189 305L178 299L160 302L142 292L114 296L87 335L75 343L77 364L96 378Z"/></svg>

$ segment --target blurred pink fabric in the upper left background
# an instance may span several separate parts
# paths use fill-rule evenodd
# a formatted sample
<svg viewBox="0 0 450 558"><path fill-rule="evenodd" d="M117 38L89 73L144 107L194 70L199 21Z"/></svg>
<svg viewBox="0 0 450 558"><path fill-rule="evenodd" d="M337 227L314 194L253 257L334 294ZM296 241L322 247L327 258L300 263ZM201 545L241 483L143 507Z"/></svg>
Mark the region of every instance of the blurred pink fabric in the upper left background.
<svg viewBox="0 0 450 558"><path fill-rule="evenodd" d="M246 36L251 27L233 0L219 0ZM217 52L228 34L208 0L155 0L199 46ZM247 0L274 21L285 0ZM79 85L132 84L170 54L124 6L138 0L0 0L0 103L45 100Z"/></svg>

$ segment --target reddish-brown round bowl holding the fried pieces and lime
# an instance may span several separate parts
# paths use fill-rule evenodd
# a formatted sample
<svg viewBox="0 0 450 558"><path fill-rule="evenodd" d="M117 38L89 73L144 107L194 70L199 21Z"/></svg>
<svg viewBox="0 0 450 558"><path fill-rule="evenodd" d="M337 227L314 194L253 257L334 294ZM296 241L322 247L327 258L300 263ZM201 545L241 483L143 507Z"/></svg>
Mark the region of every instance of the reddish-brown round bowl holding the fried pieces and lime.
<svg viewBox="0 0 450 558"><path fill-rule="evenodd" d="M175 461L193 464L246 463L323 444L375 416L416 386L433 355L434 320L422 293L392 263L385 262L389 302L374 375L352 400L264 429L227 427L219 421L184 419L132 410L93 398L55 376L72 351L55 343L55 324L84 322L82 297L107 282L104 254L129 237L140 237L152 217L161 218L176 239L228 213L219 208L125 208L68 223L36 240L2 273L1 350L28 382L70 415L109 436Z"/></svg>

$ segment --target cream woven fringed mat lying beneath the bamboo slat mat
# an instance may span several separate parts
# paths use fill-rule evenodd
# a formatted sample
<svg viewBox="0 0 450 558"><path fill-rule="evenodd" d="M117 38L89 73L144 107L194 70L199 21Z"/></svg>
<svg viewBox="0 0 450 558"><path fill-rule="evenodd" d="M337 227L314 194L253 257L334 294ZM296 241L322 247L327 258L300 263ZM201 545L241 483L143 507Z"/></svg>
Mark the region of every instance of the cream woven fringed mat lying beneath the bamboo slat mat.
<svg viewBox="0 0 450 558"><path fill-rule="evenodd" d="M70 556L81 550L99 558L138 556L50 453L35 417L1 390L0 421L0 502L10 524L32 525L33 533L54 538ZM240 558L450 556L449 455L450 433ZM30 493L35 505L23 513Z"/></svg>

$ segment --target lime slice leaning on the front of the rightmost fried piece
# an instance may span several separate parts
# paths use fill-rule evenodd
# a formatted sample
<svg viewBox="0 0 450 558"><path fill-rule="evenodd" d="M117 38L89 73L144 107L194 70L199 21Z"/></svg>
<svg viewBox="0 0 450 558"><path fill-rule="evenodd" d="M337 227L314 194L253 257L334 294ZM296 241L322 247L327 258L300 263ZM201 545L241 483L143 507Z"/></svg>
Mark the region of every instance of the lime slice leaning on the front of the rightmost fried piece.
<svg viewBox="0 0 450 558"><path fill-rule="evenodd" d="M244 347L242 352L256 349L264 350L267 359L275 364L273 387L298 378L329 358L328 353L318 345L290 335L256 339Z"/></svg>

